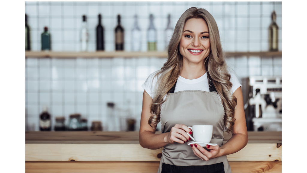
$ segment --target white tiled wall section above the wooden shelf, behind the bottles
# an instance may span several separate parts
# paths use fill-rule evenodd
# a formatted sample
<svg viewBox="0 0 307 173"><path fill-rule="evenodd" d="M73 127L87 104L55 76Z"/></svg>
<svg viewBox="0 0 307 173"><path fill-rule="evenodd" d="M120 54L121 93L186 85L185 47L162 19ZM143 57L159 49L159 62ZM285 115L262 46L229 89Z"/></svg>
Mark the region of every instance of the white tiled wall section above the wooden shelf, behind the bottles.
<svg viewBox="0 0 307 173"><path fill-rule="evenodd" d="M40 50L41 33L44 26L52 35L52 50L79 51L79 30L82 15L87 15L89 29L88 51L95 51L95 27L98 14L102 14L105 30L105 50L113 51L116 16L121 14L125 29L125 50L131 50L131 29L134 14L139 17L142 30L142 51L147 50L146 31L149 15L154 15L154 25L158 35L163 35L167 25L167 15L171 14L174 27L181 14L188 8L205 8L216 19L222 44L227 51L266 51L268 50L268 26L273 10L277 13L279 42L282 42L282 2L25 2L31 28L31 49ZM247 44L248 43L248 44ZM165 48L163 37L158 37L157 49ZM279 50L282 50L280 43Z"/></svg>

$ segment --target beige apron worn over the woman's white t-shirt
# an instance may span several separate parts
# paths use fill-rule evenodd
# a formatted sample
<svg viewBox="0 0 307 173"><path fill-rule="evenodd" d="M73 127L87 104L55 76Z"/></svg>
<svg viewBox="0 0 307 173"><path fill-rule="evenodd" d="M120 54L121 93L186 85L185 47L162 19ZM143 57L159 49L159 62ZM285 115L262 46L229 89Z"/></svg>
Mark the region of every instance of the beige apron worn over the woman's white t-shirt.
<svg viewBox="0 0 307 173"><path fill-rule="evenodd" d="M172 88L173 91L175 90L175 86L176 84ZM210 91L212 91L211 88ZM223 118L224 108L215 91L189 90L169 93L161 109L161 131L162 133L170 132L175 124L184 124L186 126L212 125L213 134L211 143L217 143L219 146L222 146L224 140ZM161 173L162 165L165 164L171 166L194 166L212 165L222 162L225 173L231 173L226 156L203 161L194 155L191 146L187 145L187 143L181 144L175 142L174 144L164 146L158 173Z"/></svg>

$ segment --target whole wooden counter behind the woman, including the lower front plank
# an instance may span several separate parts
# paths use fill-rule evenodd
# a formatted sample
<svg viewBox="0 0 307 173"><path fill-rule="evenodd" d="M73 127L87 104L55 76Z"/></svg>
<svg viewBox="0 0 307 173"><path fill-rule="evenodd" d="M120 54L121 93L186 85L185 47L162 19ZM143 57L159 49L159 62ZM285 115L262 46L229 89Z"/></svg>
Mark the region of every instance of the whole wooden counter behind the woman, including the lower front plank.
<svg viewBox="0 0 307 173"><path fill-rule="evenodd" d="M248 136L246 147L227 155L232 172L281 170L282 132L248 132ZM230 137L231 135L225 133L224 143ZM43 168L49 167L49 170L52 170L51 168L59 166L57 170L65 167L68 172L78 172L75 170L77 167L84 166L85 169L89 165L96 165L95 170L102 171L101 168L105 170L106 165L116 165L112 166L114 170L110 171L123 172L120 170L125 167L133 168L139 165L139 171L132 169L131 172L156 172L162 149L142 148L138 142L138 132L25 132L25 170L35 172L37 169L37 172L40 172ZM245 166L242 166L243 164ZM153 167L156 169L152 171ZM243 168L245 171L242 171ZM77 170L82 172L82 168Z"/></svg>

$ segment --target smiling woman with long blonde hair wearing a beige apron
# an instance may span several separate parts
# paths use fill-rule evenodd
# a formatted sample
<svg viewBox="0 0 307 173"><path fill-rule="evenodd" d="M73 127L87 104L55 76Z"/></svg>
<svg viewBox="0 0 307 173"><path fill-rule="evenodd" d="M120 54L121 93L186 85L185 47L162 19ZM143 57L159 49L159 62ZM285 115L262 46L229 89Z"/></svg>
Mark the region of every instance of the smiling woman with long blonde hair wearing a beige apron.
<svg viewBox="0 0 307 173"><path fill-rule="evenodd" d="M142 147L164 147L160 172L231 172L226 155L247 144L240 83L228 72L213 16L189 8L179 18L161 70L142 85ZM161 121L161 134L155 134ZM188 126L213 125L217 146L188 146ZM232 137L223 144L223 132ZM197 171L193 171L197 170Z"/></svg>

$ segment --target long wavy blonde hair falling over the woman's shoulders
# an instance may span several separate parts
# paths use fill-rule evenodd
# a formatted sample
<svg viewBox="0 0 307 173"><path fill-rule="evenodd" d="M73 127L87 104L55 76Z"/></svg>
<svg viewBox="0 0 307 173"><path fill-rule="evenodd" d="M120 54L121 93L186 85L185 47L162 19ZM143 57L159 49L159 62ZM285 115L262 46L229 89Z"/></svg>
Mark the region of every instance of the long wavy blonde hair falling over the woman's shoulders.
<svg viewBox="0 0 307 173"><path fill-rule="evenodd" d="M203 8L191 7L186 10L179 18L172 38L168 45L168 58L164 63L161 70L158 70L153 75L153 80L157 78L157 82L154 86L153 102L150 105L151 117L148 120L148 124L153 127L160 122L161 104L165 102L164 96L168 94L169 90L173 87L177 78L179 77L182 67L182 55L179 52L179 43L183 34L183 28L185 22L191 18L203 18L209 28L209 38L211 52L205 59L204 66L209 77L219 94L224 107L224 126L229 134L232 131L232 127L235 123L234 111L237 104L237 98L231 95L232 83L230 82L230 74L228 73L228 67L225 63L225 55L222 50L220 41L219 29L213 16Z"/></svg>

